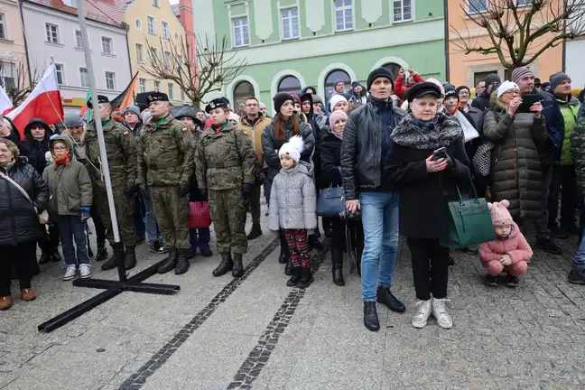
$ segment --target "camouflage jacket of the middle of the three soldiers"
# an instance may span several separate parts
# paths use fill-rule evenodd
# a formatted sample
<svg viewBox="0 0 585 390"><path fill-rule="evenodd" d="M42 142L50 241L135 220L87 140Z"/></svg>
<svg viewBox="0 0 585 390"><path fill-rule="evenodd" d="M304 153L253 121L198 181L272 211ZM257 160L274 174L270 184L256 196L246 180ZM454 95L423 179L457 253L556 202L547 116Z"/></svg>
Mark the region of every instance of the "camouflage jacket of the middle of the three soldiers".
<svg viewBox="0 0 585 390"><path fill-rule="evenodd" d="M143 125L138 140L136 184L177 186L189 184L193 172L192 135L172 116Z"/></svg>

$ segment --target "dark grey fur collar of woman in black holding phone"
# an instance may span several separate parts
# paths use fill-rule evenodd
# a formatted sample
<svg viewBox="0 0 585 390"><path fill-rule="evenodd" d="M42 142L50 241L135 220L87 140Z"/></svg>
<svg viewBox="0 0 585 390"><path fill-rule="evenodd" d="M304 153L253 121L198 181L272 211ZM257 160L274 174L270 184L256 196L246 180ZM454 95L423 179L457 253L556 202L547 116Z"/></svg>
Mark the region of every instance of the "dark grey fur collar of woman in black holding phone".
<svg viewBox="0 0 585 390"><path fill-rule="evenodd" d="M390 138L396 144L413 149L438 149L453 144L462 135L461 125L454 116L439 113L426 127L408 114L395 127Z"/></svg>

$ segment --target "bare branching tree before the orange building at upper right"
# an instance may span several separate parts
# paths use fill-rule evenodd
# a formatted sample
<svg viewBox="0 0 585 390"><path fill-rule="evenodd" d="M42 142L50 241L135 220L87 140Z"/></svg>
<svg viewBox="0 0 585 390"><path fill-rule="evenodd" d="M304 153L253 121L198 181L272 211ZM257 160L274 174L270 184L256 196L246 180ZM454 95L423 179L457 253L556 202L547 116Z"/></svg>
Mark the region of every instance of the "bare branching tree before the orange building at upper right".
<svg viewBox="0 0 585 390"><path fill-rule="evenodd" d="M547 49L585 35L585 0L483 0L482 4L488 4L487 9L479 8L478 1L466 0L461 5L465 23L476 32L468 25L464 35L451 25L458 35L454 44L465 54L497 54L508 70L528 65Z"/></svg>

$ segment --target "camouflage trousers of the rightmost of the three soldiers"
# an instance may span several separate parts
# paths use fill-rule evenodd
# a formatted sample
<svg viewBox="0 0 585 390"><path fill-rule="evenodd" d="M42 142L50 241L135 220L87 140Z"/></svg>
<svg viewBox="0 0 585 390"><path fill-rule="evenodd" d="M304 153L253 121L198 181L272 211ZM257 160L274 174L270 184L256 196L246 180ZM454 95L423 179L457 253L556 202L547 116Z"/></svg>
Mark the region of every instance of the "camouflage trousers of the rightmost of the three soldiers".
<svg viewBox="0 0 585 390"><path fill-rule="evenodd" d="M209 212L219 253L247 252L246 202L241 189L209 190Z"/></svg>

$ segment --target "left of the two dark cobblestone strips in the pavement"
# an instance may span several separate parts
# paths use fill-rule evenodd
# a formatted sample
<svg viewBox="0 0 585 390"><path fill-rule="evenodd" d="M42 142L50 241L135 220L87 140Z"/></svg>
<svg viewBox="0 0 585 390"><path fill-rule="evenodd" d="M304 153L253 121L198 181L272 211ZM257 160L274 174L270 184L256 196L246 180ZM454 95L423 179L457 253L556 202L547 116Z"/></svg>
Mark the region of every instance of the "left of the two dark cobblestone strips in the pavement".
<svg viewBox="0 0 585 390"><path fill-rule="evenodd" d="M278 237L274 237L274 240L265 247L265 249L255 256L254 260L250 262L249 265L246 266L244 275L240 278L234 278L231 282L226 284L226 286L218 292L218 294L213 297L211 302L200 312L193 317L189 323L181 328L178 332L174 334L172 339L164 345L163 348L159 349L152 357L150 357L146 364L143 367L140 367L135 374L129 376L118 388L117 390L131 390L131 389L139 389L141 388L144 383L146 382L146 378L148 376L152 376L154 372L163 367L163 364L168 360L169 357L179 348L181 345L190 337L190 335L200 328L200 326L205 322L205 320L209 319L211 314L218 309L218 306L226 301L229 295L231 295L234 291L236 291L237 287L244 283L247 277L254 272L254 270L260 265L265 258L268 257L271 253L273 253L274 249L280 245L280 241Z"/></svg>

